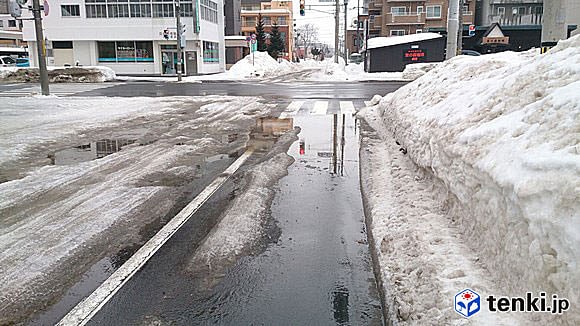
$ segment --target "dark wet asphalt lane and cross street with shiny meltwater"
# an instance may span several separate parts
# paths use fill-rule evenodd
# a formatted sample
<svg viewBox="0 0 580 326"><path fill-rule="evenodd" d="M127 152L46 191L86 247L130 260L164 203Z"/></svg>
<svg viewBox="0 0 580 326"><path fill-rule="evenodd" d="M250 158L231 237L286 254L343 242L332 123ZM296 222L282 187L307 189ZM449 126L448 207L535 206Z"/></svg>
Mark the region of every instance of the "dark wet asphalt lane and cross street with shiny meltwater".
<svg viewBox="0 0 580 326"><path fill-rule="evenodd" d="M276 103L279 111L299 99L326 99L329 103L326 115L308 114L310 103L292 117L294 125L302 129L300 141L288 151L296 161L288 176L278 183L271 207L270 232L261 240L258 252L240 258L219 275L191 275L185 270L200 241L235 196L240 171L89 324L381 325L382 312L360 194L356 121L352 115L336 115L339 146L334 173L333 113L340 112L338 100L350 99L360 107L363 100L374 94L384 95L402 85L135 82L75 94L263 96ZM344 150L341 150L343 125ZM250 160L245 168L258 159ZM115 268L105 267L109 270L100 273L100 278ZM87 291L84 288L82 292ZM75 300L80 298L77 293ZM54 309L34 324L53 324L65 313L63 308Z"/></svg>

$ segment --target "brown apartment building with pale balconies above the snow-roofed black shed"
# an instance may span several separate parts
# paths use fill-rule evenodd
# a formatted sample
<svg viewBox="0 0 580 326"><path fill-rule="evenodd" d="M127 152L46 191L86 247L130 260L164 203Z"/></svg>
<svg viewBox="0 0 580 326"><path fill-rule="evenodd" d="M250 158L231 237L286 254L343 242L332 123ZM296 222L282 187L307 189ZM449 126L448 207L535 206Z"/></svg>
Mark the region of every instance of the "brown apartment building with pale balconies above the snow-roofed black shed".
<svg viewBox="0 0 580 326"><path fill-rule="evenodd" d="M369 37L403 36L447 28L447 0L374 0L369 3ZM475 22L475 0L465 0L463 24Z"/></svg>

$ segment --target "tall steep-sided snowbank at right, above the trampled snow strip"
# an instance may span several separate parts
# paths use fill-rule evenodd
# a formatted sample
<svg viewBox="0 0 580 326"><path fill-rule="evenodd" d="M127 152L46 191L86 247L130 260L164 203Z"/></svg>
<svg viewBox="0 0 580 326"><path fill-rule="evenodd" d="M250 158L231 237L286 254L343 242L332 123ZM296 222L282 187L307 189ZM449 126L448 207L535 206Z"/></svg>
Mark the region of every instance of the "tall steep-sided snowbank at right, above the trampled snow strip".
<svg viewBox="0 0 580 326"><path fill-rule="evenodd" d="M485 295L546 291L568 298L572 309L561 316L533 315L550 323L580 323L578 89L579 36L546 55L459 56L379 105L383 132L448 191L445 211L459 238L447 250L466 247L464 254L482 264L498 291ZM421 243L436 231L425 232L412 241ZM394 258L389 243L384 246L392 291L408 292L409 300L411 294L421 297L419 289L401 289L404 282L389 279L385 260ZM435 253L428 261L437 266L444 257Z"/></svg>

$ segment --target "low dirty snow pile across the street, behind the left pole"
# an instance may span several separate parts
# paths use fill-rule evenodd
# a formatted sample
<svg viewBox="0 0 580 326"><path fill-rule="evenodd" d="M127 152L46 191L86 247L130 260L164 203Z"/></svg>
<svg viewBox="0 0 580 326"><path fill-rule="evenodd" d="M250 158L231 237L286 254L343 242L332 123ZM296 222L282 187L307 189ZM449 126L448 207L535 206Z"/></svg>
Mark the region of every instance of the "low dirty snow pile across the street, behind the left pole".
<svg viewBox="0 0 580 326"><path fill-rule="evenodd" d="M102 83L116 78L113 69L102 66L87 67L48 67L51 83ZM37 82L40 79L38 68L3 67L0 79L8 82Z"/></svg>

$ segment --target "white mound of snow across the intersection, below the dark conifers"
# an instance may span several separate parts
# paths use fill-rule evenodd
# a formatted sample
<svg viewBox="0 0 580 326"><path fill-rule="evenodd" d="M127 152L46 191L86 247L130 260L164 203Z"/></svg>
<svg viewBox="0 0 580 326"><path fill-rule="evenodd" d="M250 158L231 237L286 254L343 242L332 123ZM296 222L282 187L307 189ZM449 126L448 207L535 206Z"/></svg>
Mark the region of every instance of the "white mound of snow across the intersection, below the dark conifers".
<svg viewBox="0 0 580 326"><path fill-rule="evenodd" d="M270 77L289 72L291 69L287 64L280 64L272 58L268 52L254 52L248 54L242 60L236 62L227 74L230 76L245 77Z"/></svg>

